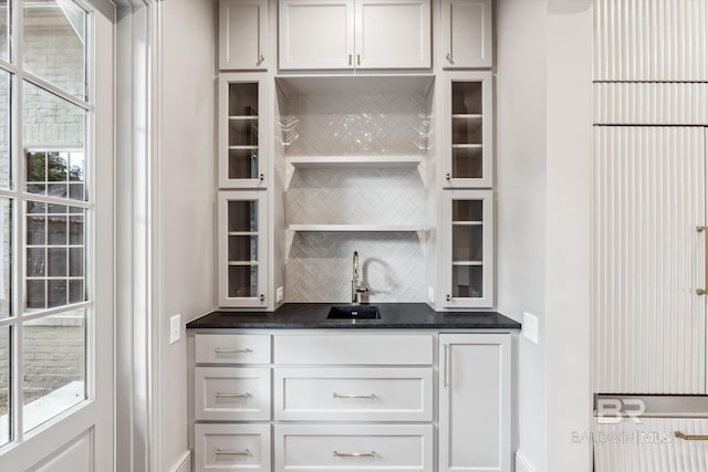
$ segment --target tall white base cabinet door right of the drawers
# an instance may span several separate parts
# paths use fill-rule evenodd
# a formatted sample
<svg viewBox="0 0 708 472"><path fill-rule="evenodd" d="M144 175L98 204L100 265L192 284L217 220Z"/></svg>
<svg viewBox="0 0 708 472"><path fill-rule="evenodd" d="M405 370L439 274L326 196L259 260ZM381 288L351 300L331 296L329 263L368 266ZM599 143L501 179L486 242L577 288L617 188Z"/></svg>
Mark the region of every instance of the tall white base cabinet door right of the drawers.
<svg viewBox="0 0 708 472"><path fill-rule="evenodd" d="M439 472L510 472L510 337L441 334L439 349Z"/></svg>

